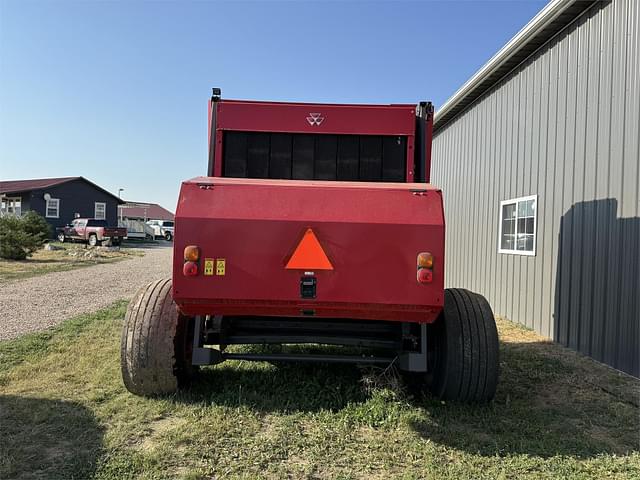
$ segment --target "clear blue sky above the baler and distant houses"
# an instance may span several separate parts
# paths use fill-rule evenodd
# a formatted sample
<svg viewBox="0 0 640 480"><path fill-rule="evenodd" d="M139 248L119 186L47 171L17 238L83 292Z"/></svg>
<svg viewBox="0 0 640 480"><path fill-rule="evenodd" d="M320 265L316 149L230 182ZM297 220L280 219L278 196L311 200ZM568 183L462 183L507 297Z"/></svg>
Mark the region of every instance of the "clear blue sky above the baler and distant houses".
<svg viewBox="0 0 640 480"><path fill-rule="evenodd" d="M175 209L207 101L436 108L544 5L0 0L0 179L82 175Z"/></svg>

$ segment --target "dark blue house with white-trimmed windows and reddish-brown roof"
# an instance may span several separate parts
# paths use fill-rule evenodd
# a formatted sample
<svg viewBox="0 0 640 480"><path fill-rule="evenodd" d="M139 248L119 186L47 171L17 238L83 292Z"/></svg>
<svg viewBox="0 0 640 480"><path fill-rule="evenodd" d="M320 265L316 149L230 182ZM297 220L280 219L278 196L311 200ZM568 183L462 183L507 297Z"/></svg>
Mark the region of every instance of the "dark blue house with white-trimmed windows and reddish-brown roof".
<svg viewBox="0 0 640 480"><path fill-rule="evenodd" d="M116 195L84 177L0 181L0 215L22 215L33 210L53 227L74 218L97 218L118 225Z"/></svg>

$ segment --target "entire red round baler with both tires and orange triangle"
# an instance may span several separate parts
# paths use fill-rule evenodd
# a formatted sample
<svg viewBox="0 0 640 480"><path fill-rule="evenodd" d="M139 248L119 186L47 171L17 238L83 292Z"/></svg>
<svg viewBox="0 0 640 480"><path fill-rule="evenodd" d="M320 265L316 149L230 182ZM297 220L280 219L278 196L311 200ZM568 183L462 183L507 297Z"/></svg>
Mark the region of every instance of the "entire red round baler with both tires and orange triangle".
<svg viewBox="0 0 640 480"><path fill-rule="evenodd" d="M172 278L127 311L129 391L173 392L225 360L306 361L393 364L439 398L491 400L491 308L444 288L432 122L428 102L237 101L214 89L207 176L182 183ZM282 349L227 348L255 344ZM295 344L345 348L287 351Z"/></svg>

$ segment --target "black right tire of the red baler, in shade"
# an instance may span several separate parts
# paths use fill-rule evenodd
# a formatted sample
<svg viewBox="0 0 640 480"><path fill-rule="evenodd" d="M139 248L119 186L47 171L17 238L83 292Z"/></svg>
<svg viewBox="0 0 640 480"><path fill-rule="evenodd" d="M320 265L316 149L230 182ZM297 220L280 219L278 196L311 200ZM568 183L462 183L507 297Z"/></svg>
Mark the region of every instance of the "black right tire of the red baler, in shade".
<svg viewBox="0 0 640 480"><path fill-rule="evenodd" d="M498 385L499 342L489 302L468 290L446 289L444 310L433 327L431 392L442 400L491 401Z"/></svg>

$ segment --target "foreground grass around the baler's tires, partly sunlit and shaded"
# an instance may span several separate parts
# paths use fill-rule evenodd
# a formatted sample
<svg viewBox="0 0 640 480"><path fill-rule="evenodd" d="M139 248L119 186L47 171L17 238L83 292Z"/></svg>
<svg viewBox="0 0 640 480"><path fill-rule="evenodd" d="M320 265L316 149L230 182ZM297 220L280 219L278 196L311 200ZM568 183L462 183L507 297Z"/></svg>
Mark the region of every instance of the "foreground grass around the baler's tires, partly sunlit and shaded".
<svg viewBox="0 0 640 480"><path fill-rule="evenodd" d="M0 478L640 478L640 382L509 322L489 406L248 362L147 399L120 379L125 308L0 342Z"/></svg>

